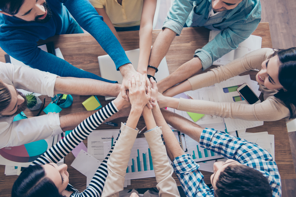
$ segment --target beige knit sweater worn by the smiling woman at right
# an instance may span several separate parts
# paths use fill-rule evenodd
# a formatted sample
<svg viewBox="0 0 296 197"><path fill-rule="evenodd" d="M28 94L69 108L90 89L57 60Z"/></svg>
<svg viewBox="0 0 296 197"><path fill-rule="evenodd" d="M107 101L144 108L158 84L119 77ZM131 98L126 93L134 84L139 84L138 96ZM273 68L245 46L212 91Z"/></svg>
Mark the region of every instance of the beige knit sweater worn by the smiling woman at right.
<svg viewBox="0 0 296 197"><path fill-rule="evenodd" d="M220 83L251 69L261 70L261 64L272 57L271 48L261 48L246 54L224 66L218 66L210 71L193 76L188 79L192 90ZM259 85L264 101L258 104L239 104L230 102L211 102L204 100L180 99L178 110L216 115L222 118L237 118L247 121L277 121L282 118L289 119L289 109L284 103L274 97L276 90L267 89Z"/></svg>

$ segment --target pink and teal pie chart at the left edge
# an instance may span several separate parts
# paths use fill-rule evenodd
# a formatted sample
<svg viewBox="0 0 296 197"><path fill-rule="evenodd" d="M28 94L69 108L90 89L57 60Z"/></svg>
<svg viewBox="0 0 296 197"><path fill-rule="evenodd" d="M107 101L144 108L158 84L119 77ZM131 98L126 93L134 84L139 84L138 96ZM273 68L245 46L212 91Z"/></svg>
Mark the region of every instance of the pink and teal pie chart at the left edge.
<svg viewBox="0 0 296 197"><path fill-rule="evenodd" d="M21 146L4 147L0 155L13 162L33 162L47 150L47 142L42 139Z"/></svg>

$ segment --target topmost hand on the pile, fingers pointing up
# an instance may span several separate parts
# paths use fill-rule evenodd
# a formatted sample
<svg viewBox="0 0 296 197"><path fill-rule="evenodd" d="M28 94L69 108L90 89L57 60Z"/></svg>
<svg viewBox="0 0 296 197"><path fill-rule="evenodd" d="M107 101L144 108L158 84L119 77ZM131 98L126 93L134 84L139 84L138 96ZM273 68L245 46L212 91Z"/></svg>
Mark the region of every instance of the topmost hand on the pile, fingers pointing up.
<svg viewBox="0 0 296 197"><path fill-rule="evenodd" d="M132 75L131 79L128 79L128 97L132 108L143 110L151 98L151 88L148 86L146 94L146 76L140 80L140 75L137 73L136 79L134 75Z"/></svg>

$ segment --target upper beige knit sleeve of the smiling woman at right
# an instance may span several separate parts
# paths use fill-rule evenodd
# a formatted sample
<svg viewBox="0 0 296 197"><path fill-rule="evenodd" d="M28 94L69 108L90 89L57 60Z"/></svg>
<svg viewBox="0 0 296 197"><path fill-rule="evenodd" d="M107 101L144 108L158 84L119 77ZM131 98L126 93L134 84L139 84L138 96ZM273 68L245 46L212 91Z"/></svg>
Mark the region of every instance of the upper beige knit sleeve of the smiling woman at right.
<svg viewBox="0 0 296 197"><path fill-rule="evenodd" d="M252 51L245 56L235 59L224 66L218 66L210 69L210 71L195 75L188 79L192 90L202 87L211 86L215 83L220 83L231 77L252 69L261 70L261 64L266 59L272 57L274 50L271 48L261 48Z"/></svg>

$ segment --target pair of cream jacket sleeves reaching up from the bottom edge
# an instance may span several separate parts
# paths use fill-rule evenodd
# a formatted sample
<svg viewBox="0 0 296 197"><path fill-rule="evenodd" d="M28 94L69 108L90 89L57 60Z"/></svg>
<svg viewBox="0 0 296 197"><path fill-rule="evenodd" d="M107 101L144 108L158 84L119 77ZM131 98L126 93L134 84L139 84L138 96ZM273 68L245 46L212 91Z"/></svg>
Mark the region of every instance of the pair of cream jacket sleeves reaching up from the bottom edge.
<svg viewBox="0 0 296 197"><path fill-rule="evenodd" d="M101 197L119 197L119 192L123 190L128 160L139 130L132 129L123 123L120 130L120 136L107 162L108 176ZM176 181L172 177L174 170L168 161L165 145L161 140L161 127L149 131L148 134L152 135L147 136L145 133L146 139L149 137L147 142L151 151L159 196L180 197ZM151 138L155 142L153 145L149 143Z"/></svg>

